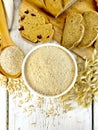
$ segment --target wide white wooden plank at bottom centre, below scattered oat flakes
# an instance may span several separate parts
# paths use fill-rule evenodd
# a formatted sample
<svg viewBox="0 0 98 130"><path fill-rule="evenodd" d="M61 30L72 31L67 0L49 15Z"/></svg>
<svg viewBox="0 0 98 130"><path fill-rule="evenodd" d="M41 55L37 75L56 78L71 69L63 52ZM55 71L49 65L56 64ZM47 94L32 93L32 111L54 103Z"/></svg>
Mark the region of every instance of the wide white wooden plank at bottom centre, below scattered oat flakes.
<svg viewBox="0 0 98 130"><path fill-rule="evenodd" d="M17 108L16 102L9 98L9 130L92 130L91 107L76 108L68 113L46 118L37 109L27 116ZM44 109L47 108L48 106Z"/></svg>

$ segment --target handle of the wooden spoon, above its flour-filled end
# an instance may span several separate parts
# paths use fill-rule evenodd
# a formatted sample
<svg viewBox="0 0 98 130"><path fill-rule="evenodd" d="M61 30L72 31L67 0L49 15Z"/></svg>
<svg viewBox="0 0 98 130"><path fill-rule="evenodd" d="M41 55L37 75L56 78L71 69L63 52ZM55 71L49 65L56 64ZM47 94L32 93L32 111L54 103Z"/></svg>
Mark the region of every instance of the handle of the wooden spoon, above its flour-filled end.
<svg viewBox="0 0 98 130"><path fill-rule="evenodd" d="M9 35L2 0L0 0L0 33L1 33L0 50L4 49L7 46L14 45Z"/></svg>

